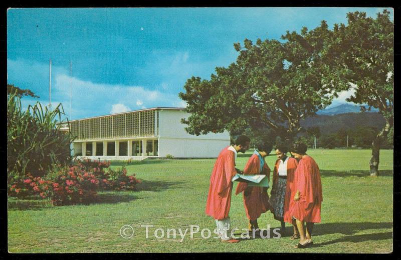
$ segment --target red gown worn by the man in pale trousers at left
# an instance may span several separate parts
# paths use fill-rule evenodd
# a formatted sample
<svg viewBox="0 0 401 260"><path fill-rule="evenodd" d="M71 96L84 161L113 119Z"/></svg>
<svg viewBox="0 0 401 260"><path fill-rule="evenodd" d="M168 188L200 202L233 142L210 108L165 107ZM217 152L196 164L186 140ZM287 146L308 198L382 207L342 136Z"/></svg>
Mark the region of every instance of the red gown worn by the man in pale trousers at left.
<svg viewBox="0 0 401 260"><path fill-rule="evenodd" d="M229 150L229 147L220 152L210 178L206 214L214 219L224 219L229 216L233 190L231 179L237 173L234 151Z"/></svg>

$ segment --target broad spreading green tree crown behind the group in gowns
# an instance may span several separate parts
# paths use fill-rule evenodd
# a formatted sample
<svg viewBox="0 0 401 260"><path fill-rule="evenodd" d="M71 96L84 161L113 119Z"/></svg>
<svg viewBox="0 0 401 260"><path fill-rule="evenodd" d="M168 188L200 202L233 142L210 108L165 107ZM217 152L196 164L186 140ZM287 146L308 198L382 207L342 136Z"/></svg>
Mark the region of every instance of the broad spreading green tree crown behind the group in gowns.
<svg viewBox="0 0 401 260"><path fill-rule="evenodd" d="M327 24L321 25L324 28ZM304 28L303 31L306 31ZM287 142L300 131L300 120L330 104L333 90L322 82L319 51L314 35L283 35L278 40L245 39L235 43L236 62L216 67L211 79L192 76L180 92L191 113L182 122L191 134L239 133L269 128ZM319 44L316 44L319 42Z"/></svg>

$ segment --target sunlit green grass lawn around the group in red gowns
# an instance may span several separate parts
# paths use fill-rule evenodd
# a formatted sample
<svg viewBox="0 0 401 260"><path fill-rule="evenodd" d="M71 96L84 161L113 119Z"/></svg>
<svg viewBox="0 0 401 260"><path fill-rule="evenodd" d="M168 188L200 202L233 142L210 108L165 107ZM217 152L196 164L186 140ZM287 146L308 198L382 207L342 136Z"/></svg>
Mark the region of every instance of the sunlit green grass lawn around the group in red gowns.
<svg viewBox="0 0 401 260"><path fill-rule="evenodd" d="M9 200L8 245L10 252L337 252L372 253L392 251L393 161L392 150L380 151L379 177L370 177L370 150L310 150L322 176L322 222L315 225L314 246L296 249L289 237L246 239L222 243L204 239L200 230L213 230L215 221L205 214L209 179L215 159L145 160L127 165L129 173L143 180L138 191L102 192L99 203L51 206L46 201ZM243 168L251 151L239 154ZM276 156L268 156L270 167ZM118 167L121 163L113 163ZM234 188L237 184L234 184ZM270 194L270 190L269 190ZM246 228L242 195L231 202L232 228ZM135 232L120 235L129 224ZM279 227L270 212L262 214L259 226ZM145 227L149 227L149 238ZM180 241L154 237L156 228L198 225ZM287 226L287 233L292 233ZM128 230L129 231L129 230ZM127 232L129 233L129 232ZM239 232L236 232L239 233ZM161 236L159 230L157 235Z"/></svg>

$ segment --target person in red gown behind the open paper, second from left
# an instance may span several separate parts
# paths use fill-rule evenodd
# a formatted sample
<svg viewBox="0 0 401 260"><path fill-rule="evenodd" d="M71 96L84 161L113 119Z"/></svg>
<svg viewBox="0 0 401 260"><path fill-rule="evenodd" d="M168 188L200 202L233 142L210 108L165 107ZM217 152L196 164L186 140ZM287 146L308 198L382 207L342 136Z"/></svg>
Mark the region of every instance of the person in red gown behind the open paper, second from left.
<svg viewBox="0 0 401 260"><path fill-rule="evenodd" d="M265 162L265 157L272 150L270 143L258 145L258 150L249 158L244 168L244 174L263 174L270 180L270 168ZM243 192L244 207L249 219L248 229L256 232L259 229L258 217L271 208L269 203L268 187L250 186L246 182L239 182L236 195Z"/></svg>

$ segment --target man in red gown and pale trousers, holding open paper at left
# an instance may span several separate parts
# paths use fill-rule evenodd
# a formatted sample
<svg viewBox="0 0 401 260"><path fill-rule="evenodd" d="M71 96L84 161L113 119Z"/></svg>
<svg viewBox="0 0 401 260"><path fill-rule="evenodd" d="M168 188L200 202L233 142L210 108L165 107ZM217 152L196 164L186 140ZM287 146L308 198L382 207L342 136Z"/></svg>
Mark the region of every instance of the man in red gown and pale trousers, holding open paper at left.
<svg viewBox="0 0 401 260"><path fill-rule="evenodd" d="M239 242L229 235L230 205L233 182L231 181L239 171L235 168L237 153L245 153L251 140L248 136L238 136L234 145L225 147L219 154L210 178L208 199L206 201L206 214L212 216L217 225L222 241Z"/></svg>

